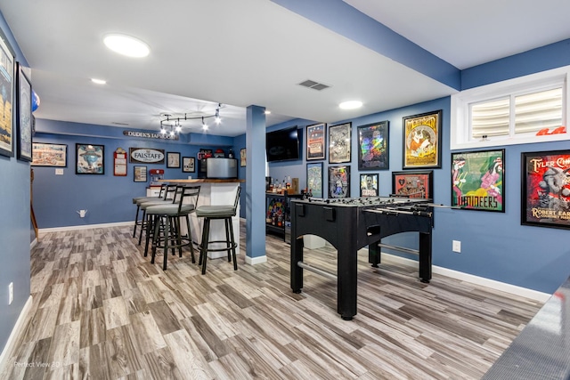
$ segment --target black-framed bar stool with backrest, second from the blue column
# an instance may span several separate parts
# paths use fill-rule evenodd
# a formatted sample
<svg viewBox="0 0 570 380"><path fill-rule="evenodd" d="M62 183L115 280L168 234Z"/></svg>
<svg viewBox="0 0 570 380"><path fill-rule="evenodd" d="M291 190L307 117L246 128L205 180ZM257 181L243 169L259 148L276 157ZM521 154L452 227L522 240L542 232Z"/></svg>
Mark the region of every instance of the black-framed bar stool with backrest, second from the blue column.
<svg viewBox="0 0 570 380"><path fill-rule="evenodd" d="M190 214L196 211L199 189L199 186L178 186L173 203L146 207L146 214L149 218L147 222L154 230L152 232L151 263L154 263L157 248L164 248L163 271L167 270L168 249L172 249L172 254L174 255L177 248L180 257L182 257L182 247L190 246L192 263L196 263L191 235ZM188 235L184 237L180 229L181 218L185 219L188 231ZM150 234L147 234L145 253L148 249L149 239Z"/></svg>

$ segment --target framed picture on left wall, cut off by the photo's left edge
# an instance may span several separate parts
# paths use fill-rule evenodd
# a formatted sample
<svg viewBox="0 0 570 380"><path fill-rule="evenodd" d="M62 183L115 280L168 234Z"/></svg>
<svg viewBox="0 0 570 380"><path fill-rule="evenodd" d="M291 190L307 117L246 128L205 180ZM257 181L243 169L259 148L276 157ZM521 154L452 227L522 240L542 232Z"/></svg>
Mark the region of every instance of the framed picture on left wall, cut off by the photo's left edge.
<svg viewBox="0 0 570 380"><path fill-rule="evenodd" d="M4 32L0 29L0 154L14 156L13 104L14 104L15 53Z"/></svg>

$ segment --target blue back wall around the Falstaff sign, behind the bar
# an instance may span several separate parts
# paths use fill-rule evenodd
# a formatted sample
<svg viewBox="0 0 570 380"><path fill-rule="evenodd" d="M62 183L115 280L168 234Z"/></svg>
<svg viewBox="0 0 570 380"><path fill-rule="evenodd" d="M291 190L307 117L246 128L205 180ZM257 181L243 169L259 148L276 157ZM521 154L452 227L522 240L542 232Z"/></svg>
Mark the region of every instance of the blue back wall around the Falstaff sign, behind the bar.
<svg viewBox="0 0 570 380"><path fill-rule="evenodd" d="M67 133L73 130L75 134ZM37 120L34 142L67 144L68 165L63 175L56 175L54 167L34 166L34 211L40 229L134 221L133 197L146 195L148 182L134 182L134 166L147 166L147 169L164 169L165 179L184 179L189 175L198 178L196 173L183 173L181 168L167 168L165 164L127 164L126 176L113 175L113 153L118 148L128 152L129 148L154 148L166 152L178 152L183 157L196 158L200 149L232 148L233 138L209 136L208 143L201 143L200 135L181 136L181 141L163 141L126 138L119 128L102 125L81 125L76 123ZM50 133L51 132L51 133ZM83 134L83 135L81 135ZM100 137L105 136L108 137ZM196 145L188 143L191 141ZM205 141L205 140L204 140ZM76 143L104 145L105 174L76 174ZM150 179L150 176L149 176ZM80 218L77 210L88 210L85 218Z"/></svg>

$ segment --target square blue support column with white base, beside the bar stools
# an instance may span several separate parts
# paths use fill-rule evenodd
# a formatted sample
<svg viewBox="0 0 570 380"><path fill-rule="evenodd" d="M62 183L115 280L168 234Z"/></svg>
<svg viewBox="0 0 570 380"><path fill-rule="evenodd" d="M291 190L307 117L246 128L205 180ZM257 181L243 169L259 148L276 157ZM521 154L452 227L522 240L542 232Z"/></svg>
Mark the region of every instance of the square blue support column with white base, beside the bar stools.
<svg viewBox="0 0 570 380"><path fill-rule="evenodd" d="M265 107L251 105L246 125L246 263L265 263Z"/></svg>

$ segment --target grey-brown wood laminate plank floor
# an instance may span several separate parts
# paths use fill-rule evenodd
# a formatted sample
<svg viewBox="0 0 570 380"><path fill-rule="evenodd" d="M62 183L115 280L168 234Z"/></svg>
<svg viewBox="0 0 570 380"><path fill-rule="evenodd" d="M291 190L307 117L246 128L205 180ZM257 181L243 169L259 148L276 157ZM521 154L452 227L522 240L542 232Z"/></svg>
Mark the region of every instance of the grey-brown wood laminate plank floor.
<svg viewBox="0 0 570 380"><path fill-rule="evenodd" d="M242 227L241 230L244 230ZM289 245L239 270L189 253L167 271L131 227L50 232L31 253L33 305L2 379L476 379L541 303L359 254L358 314L336 312L336 281L289 287ZM336 252L305 261L334 271ZM160 262L160 263L159 263Z"/></svg>

